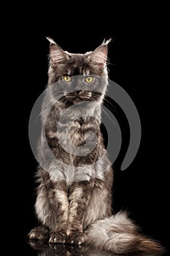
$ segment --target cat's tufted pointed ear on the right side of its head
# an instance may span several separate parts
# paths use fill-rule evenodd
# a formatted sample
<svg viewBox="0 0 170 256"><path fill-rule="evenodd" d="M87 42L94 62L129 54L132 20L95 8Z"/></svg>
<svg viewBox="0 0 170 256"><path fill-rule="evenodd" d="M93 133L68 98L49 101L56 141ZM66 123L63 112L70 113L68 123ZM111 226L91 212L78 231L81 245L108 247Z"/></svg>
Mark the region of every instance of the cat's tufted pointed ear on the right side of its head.
<svg viewBox="0 0 170 256"><path fill-rule="evenodd" d="M102 42L98 48L90 53L90 60L93 64L98 64L100 67L104 67L107 64L107 45L112 39L108 39L106 42Z"/></svg>

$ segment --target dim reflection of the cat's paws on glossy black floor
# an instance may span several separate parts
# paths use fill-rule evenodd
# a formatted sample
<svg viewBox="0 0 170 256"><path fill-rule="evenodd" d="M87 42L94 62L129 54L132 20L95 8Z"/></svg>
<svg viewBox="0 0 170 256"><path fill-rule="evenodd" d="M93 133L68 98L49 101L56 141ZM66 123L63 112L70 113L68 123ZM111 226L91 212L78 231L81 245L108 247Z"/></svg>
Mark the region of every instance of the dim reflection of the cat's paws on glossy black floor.
<svg viewBox="0 0 170 256"><path fill-rule="evenodd" d="M117 256L112 252L98 251L97 249L85 244L82 244L81 246L71 246L69 244L49 244L47 241L42 240L30 240L28 241L28 244L33 249L38 251L37 256ZM139 255L150 256L145 254ZM130 254L123 256L130 256ZM131 254L131 256L136 256L136 254Z"/></svg>

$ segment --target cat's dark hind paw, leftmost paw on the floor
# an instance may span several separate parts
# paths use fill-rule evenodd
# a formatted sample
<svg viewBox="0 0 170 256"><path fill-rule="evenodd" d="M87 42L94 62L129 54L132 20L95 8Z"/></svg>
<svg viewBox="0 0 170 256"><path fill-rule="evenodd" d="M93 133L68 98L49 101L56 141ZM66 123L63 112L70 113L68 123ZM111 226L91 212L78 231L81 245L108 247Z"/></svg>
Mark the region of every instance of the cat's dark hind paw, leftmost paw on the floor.
<svg viewBox="0 0 170 256"><path fill-rule="evenodd" d="M34 229L32 229L30 233L28 233L28 238L30 239L47 240L49 239L49 237L49 230L43 226L34 227Z"/></svg>

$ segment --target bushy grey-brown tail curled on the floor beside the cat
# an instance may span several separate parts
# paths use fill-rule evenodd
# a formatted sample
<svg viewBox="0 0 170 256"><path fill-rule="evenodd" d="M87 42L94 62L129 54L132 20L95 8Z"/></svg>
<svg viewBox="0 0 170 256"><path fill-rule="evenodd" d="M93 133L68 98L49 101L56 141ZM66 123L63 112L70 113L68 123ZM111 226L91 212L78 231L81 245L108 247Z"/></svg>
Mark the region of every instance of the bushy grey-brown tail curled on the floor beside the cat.
<svg viewBox="0 0 170 256"><path fill-rule="evenodd" d="M117 254L144 252L148 255L162 254L163 247L157 241L142 236L138 227L128 219L125 212L93 223L88 229L87 243L96 249Z"/></svg>

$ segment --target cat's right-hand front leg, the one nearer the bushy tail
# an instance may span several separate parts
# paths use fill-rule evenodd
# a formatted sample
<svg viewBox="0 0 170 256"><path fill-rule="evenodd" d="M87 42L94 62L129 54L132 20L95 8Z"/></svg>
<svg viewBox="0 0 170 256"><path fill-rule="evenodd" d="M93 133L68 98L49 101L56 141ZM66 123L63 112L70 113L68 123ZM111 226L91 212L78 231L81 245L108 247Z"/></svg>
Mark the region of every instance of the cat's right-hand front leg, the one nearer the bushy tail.
<svg viewBox="0 0 170 256"><path fill-rule="evenodd" d="M93 179L72 184L69 193L69 219L66 230L66 241L69 244L84 244L87 240L82 230L82 222L93 185Z"/></svg>

